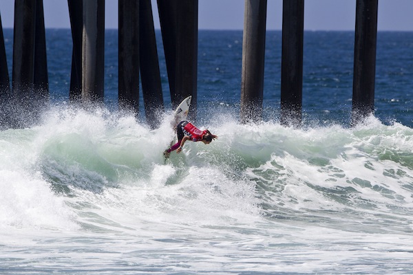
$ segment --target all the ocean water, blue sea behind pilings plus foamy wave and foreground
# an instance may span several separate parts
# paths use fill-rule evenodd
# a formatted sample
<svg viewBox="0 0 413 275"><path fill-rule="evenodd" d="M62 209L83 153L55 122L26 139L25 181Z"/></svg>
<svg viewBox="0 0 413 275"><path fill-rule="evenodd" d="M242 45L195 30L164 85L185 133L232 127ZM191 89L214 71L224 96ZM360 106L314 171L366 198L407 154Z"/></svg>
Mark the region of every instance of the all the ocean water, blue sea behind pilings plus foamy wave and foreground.
<svg viewBox="0 0 413 275"><path fill-rule="evenodd" d="M264 120L240 124L242 32L200 31L196 124L219 138L167 162L162 45L168 108L151 130L116 111L116 31L106 106L87 111L67 103L70 30L46 34L50 108L0 131L1 274L413 273L413 33L379 32L376 112L351 128L354 35L306 32L294 129L278 122L281 32Z"/></svg>

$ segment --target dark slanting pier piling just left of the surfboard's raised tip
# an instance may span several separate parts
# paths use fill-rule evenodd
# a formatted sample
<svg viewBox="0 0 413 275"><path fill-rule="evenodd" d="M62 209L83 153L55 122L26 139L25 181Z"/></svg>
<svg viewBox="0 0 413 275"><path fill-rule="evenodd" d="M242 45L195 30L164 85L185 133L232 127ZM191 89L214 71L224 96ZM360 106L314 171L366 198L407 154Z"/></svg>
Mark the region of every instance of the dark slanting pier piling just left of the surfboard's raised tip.
<svg viewBox="0 0 413 275"><path fill-rule="evenodd" d="M165 111L151 0L140 0L140 79L147 124L154 129Z"/></svg>

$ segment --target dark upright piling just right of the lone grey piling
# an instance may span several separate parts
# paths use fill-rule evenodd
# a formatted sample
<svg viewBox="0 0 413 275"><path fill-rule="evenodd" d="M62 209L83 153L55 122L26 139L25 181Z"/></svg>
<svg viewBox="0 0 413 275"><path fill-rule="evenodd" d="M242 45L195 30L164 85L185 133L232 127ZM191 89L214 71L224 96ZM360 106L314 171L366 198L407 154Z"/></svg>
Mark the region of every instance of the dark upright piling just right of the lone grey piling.
<svg viewBox="0 0 413 275"><path fill-rule="evenodd" d="M284 125L301 125L303 41L304 0L284 0L280 113L280 122Z"/></svg>

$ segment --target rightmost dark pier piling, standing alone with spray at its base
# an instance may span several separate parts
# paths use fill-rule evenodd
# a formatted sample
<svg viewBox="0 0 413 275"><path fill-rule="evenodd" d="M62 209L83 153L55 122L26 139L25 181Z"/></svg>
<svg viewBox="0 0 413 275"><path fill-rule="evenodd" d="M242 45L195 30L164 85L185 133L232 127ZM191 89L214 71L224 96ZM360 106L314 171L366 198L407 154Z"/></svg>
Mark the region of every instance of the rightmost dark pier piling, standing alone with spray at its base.
<svg viewBox="0 0 413 275"><path fill-rule="evenodd" d="M357 0L351 124L374 113L378 0Z"/></svg>

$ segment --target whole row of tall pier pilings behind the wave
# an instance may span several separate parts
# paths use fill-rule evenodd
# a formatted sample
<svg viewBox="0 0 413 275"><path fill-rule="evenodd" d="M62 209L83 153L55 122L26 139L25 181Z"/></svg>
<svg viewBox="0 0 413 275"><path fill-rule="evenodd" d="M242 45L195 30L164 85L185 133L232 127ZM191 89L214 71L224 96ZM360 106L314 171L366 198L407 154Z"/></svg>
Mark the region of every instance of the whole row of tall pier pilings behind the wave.
<svg viewBox="0 0 413 275"><path fill-rule="evenodd" d="M67 0L67 5L73 41L70 91L67 92L71 102L99 104L105 94L105 0ZM157 5L171 107L175 108L183 98L191 95L189 119L195 120L198 0L158 0ZM377 0L356 2L352 125L374 113L377 7ZM267 12L267 0L244 1L240 90L240 120L244 123L262 120ZM284 0L282 17L279 121L286 126L299 127L302 120L304 0ZM119 109L139 113L141 83L147 124L155 127L160 120L158 113L165 111L165 104L151 1L118 0L118 18ZM37 108L47 104L45 43L43 0L15 0L11 78L0 17L1 108L20 104L23 109L36 113Z"/></svg>

